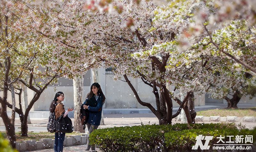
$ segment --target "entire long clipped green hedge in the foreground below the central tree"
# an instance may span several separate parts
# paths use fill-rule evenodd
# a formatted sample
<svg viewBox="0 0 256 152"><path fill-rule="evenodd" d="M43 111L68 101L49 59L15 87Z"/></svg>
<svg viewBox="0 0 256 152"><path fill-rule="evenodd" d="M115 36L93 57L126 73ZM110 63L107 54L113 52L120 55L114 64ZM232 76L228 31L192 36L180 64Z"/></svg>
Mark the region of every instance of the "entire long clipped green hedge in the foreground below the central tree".
<svg viewBox="0 0 256 152"><path fill-rule="evenodd" d="M212 144L219 141L216 137L220 135L256 135L256 128L238 130L234 123L140 125L97 129L90 134L89 139L91 144L106 152L192 151L199 134L214 136L210 141Z"/></svg>

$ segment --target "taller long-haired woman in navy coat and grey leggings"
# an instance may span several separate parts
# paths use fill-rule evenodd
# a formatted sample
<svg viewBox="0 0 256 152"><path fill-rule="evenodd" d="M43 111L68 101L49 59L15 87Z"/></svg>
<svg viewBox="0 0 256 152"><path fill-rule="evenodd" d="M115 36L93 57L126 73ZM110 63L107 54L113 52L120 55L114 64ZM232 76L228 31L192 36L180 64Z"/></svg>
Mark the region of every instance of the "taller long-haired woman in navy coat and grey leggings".
<svg viewBox="0 0 256 152"><path fill-rule="evenodd" d="M87 128L89 131L89 135L90 133L92 133L93 130L99 127L100 120L101 120L102 106L105 103L105 95L101 90L100 84L97 82L92 84L91 91L87 94L84 104L86 104L87 100L91 99L92 97L96 99L97 106L91 107L91 106L84 105L84 108L89 110L89 118L87 121ZM90 141L88 138L85 150L90 150L91 147L92 147L92 150L95 150L95 146L90 145Z"/></svg>

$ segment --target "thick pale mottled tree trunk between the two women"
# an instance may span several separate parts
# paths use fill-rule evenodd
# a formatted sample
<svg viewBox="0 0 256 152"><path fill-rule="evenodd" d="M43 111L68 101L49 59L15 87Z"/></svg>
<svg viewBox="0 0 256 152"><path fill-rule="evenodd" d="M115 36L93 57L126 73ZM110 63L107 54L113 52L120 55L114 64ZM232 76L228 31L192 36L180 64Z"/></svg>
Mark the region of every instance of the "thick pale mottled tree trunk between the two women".
<svg viewBox="0 0 256 152"><path fill-rule="evenodd" d="M80 106L83 103L83 86L84 86L84 73L73 78L74 88L74 131L84 133L83 125L80 120Z"/></svg>

